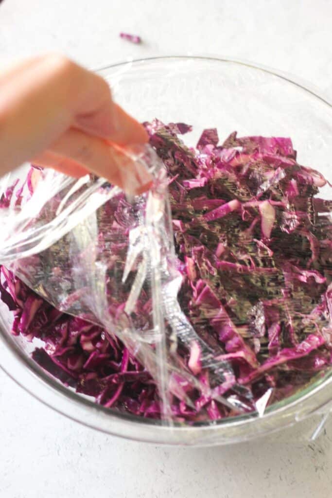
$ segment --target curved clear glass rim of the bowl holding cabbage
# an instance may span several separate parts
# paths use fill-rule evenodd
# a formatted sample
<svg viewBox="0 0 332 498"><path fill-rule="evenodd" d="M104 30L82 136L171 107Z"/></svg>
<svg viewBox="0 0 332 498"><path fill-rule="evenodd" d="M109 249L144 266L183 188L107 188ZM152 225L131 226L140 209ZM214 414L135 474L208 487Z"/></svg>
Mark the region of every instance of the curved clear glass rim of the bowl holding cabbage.
<svg viewBox="0 0 332 498"><path fill-rule="evenodd" d="M330 99L324 96L322 92L318 91L316 88L314 89L312 85L281 71L267 68L256 63L228 57L213 55L165 55L143 57L130 61L116 62L103 66L96 71L98 73L104 73L107 70L123 68L128 64L139 65L153 61L162 62L164 60L178 59L234 63L263 71L279 77L310 93L313 97L327 104L327 106L332 109L332 102ZM267 432L279 430L294 423L298 419L305 418L317 412L317 410L322 409L322 407L331 402L331 395L328 394L328 389L325 389L332 382L332 372L329 371L315 382L309 383L305 389L297 391L292 396L273 404L265 411L264 416L262 417L259 417L257 413L247 413L241 416L221 419L216 422L202 422L194 425L176 424L170 427L160 420L146 419L136 415L110 410L109 408L98 405L95 401L87 399L75 391L70 390L41 369L31 358L27 357L22 352L21 348L19 348L15 338L8 335L5 331L3 332L5 325L3 323L0 325L0 368L7 373L9 377L36 399L56 410L58 413L88 427L126 439L158 444L195 446L233 443L252 439ZM27 371L30 375L26 375ZM325 395L323 391L325 391ZM300 392L301 395L299 394ZM311 401L311 404L308 404L308 401ZM97 421L94 419L96 413L99 416ZM274 425L271 427L272 419ZM278 423L275 424L277 420ZM243 430L244 426L247 428L249 425L255 428L252 431ZM242 431L239 431L239 433L236 434L236 429L240 428L242 428ZM231 432L232 435L226 435L225 433L227 431Z"/></svg>

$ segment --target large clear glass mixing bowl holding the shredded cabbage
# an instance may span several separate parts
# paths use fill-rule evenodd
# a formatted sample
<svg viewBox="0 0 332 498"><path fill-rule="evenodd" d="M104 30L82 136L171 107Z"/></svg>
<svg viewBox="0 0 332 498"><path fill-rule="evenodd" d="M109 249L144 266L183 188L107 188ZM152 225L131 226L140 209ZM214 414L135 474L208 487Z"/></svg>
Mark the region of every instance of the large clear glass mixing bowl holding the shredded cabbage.
<svg viewBox="0 0 332 498"><path fill-rule="evenodd" d="M247 63L213 57L157 57L115 64L100 70L114 99L140 121L193 125L185 135L195 145L203 128L219 136L290 136L301 164L332 181L332 106L292 79ZM331 198L331 189L322 196ZM159 444L215 445L255 438L331 403L332 373L310 382L265 414L246 414L194 426L167 427L160 421L119 414L75 393L50 377L29 357L34 345L10 335L11 314L0 306L0 364L18 384L68 417L109 434Z"/></svg>

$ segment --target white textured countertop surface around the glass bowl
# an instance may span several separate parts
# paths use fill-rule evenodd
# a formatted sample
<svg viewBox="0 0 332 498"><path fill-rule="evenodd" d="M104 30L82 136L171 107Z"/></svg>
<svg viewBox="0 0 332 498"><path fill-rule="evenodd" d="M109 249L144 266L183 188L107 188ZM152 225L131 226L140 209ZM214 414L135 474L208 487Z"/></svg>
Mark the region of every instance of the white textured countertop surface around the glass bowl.
<svg viewBox="0 0 332 498"><path fill-rule="evenodd" d="M293 73L331 97L331 20L329 0L5 0L0 68L46 51L89 67L212 53ZM119 39L119 31L144 44ZM233 447L157 448L67 420L1 371L0 407L0 498L332 496L332 422L313 444L301 424Z"/></svg>

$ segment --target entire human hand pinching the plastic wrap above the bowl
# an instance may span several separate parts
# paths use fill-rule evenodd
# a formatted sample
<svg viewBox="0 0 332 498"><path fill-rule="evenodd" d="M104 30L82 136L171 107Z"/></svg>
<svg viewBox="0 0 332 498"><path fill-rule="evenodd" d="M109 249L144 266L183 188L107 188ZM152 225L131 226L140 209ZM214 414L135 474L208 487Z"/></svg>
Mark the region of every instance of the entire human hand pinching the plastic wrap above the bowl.
<svg viewBox="0 0 332 498"><path fill-rule="evenodd" d="M30 161L75 177L93 172L138 194L151 176L119 147L147 140L106 81L65 57L37 57L0 76L0 174Z"/></svg>

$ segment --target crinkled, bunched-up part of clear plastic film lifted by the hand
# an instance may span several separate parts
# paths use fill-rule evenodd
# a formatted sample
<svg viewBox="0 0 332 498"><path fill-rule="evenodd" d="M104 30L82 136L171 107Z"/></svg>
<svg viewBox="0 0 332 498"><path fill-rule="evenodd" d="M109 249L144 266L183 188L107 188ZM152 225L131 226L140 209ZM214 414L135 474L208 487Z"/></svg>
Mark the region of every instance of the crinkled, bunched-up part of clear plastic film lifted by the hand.
<svg viewBox="0 0 332 498"><path fill-rule="evenodd" d="M4 178L2 193L8 185L14 190L0 210L6 233L0 261L58 310L120 339L156 383L165 423L180 419L172 398L192 410L199 398L202 406L216 399L234 413L252 409L251 393L234 384L230 365L216 360L218 351L195 332L177 301L182 276L166 170L150 147L132 157L154 175L151 190L134 198L88 175L74 180L31 168L24 183L13 182L13 174ZM199 349L211 385L190 371L178 347L188 354ZM230 385L238 398L223 396Z"/></svg>

